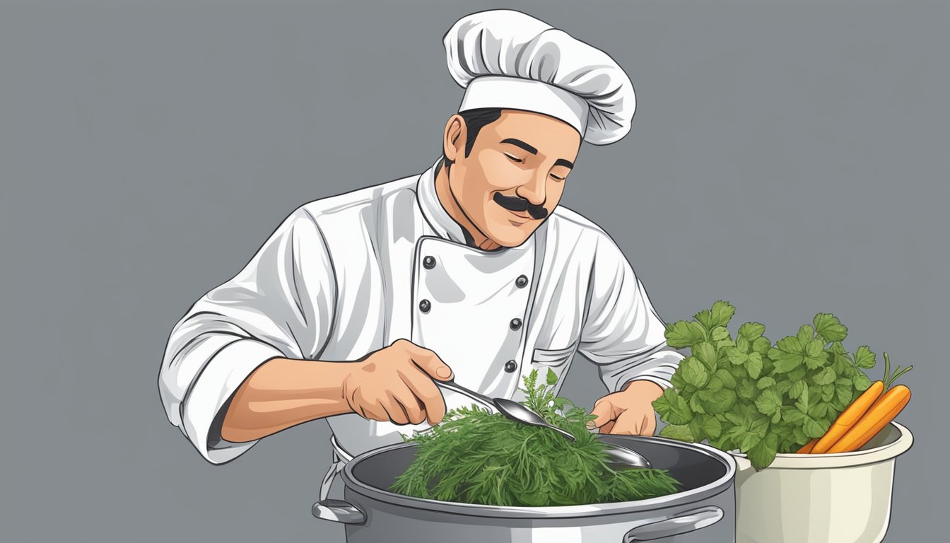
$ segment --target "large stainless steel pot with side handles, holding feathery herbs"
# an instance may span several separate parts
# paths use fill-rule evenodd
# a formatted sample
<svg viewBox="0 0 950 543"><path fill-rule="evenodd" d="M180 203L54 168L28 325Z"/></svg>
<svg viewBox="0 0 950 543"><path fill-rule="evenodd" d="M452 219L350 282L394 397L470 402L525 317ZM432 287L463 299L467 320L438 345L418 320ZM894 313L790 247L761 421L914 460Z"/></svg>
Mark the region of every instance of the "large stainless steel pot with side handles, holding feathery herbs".
<svg viewBox="0 0 950 543"><path fill-rule="evenodd" d="M646 456L683 485L653 499L561 507L496 507L390 493L409 467L413 443L356 456L342 470L344 499L314 504L314 516L346 524L348 543L731 542L735 460L696 443L662 437L599 436Z"/></svg>

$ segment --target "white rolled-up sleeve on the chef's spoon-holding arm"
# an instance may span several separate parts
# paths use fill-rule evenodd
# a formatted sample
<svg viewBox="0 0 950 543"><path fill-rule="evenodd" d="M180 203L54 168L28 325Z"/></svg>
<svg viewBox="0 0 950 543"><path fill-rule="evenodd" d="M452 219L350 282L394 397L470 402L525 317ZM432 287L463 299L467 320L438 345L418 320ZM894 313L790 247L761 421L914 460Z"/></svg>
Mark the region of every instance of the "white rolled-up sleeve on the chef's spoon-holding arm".
<svg viewBox="0 0 950 543"><path fill-rule="evenodd" d="M299 208L232 280L201 297L172 329L159 374L168 420L220 464L257 441L231 443L220 421L264 362L310 358L333 321L333 264L314 218Z"/></svg>

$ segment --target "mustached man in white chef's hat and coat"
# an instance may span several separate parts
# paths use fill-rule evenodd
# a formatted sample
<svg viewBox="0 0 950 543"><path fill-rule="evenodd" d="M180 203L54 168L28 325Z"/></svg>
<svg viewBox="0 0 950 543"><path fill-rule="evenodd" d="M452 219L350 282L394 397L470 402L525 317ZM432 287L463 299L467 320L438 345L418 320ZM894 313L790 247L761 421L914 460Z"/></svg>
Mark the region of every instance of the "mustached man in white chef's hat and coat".
<svg viewBox="0 0 950 543"><path fill-rule="evenodd" d="M630 80L518 11L468 15L445 47L465 93L443 156L299 207L172 330L161 399L210 462L326 418L329 481L471 403L434 380L518 400L524 376L563 377L576 353L610 393L593 409L599 432L654 433L651 402L682 357L617 243L558 205L581 142L629 131Z"/></svg>

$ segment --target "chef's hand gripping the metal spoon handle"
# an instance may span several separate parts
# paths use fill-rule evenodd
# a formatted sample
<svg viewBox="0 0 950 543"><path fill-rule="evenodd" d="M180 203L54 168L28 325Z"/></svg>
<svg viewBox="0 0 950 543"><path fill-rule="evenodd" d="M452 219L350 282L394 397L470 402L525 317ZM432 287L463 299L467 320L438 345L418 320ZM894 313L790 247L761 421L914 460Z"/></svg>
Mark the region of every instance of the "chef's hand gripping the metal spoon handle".
<svg viewBox="0 0 950 543"><path fill-rule="evenodd" d="M448 380L452 370L432 351L396 339L353 362L341 392L354 413L396 424L435 425L446 416L446 402L432 379Z"/></svg>

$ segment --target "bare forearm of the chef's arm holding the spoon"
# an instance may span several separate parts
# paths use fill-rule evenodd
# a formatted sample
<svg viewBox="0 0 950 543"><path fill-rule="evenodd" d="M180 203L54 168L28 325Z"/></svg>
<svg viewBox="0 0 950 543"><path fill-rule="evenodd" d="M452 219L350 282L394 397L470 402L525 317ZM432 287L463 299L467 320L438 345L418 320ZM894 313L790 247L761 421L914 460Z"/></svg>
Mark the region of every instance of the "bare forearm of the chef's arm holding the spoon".
<svg viewBox="0 0 950 543"><path fill-rule="evenodd" d="M352 413L343 397L348 362L270 359L238 387L221 437L253 441L308 420Z"/></svg>

